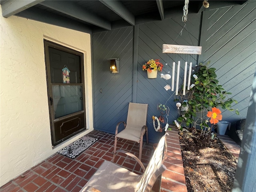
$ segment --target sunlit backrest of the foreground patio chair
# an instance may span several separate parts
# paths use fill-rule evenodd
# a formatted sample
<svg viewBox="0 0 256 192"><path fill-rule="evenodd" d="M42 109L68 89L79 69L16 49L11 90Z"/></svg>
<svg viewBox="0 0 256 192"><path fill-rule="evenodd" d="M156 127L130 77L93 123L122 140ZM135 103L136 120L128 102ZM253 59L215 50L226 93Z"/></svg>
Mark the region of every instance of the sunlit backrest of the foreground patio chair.
<svg viewBox="0 0 256 192"><path fill-rule="evenodd" d="M158 176L166 170L166 166L163 165L167 154L166 134L160 139L146 170L142 174L137 192L150 192Z"/></svg>

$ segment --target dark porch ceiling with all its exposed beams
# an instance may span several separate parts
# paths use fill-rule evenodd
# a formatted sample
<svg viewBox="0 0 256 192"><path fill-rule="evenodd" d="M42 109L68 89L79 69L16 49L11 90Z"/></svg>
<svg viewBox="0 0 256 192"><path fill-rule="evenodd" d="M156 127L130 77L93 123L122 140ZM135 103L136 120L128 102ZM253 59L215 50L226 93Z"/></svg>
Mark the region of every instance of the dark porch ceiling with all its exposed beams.
<svg viewBox="0 0 256 192"><path fill-rule="evenodd" d="M204 10L202 2L190 0L188 12ZM208 2L214 9L246 1ZM16 15L91 34L182 16L184 0L0 0L0 4L6 18Z"/></svg>

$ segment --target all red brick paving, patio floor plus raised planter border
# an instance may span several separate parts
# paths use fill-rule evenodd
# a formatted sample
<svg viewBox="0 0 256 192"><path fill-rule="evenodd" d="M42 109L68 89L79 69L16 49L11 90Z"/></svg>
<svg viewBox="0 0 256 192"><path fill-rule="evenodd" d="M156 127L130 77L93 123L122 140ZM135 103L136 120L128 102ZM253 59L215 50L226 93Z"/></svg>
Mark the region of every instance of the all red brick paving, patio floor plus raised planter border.
<svg viewBox="0 0 256 192"><path fill-rule="evenodd" d="M153 191L155 192L186 192L183 162L178 138L178 131L167 131L167 158L164 165L167 170L158 178ZM104 160L112 160L114 135L92 131L87 136L98 138L87 150L74 159L58 153L53 154L40 164L32 167L0 188L0 192L79 192L90 177L98 170ZM218 138L238 158L240 147L228 136ZM117 148L139 155L139 144L118 139ZM152 156L152 144L143 142L142 163L146 167ZM117 155L115 163L142 174L140 165L129 156ZM160 187L161 183L161 187Z"/></svg>

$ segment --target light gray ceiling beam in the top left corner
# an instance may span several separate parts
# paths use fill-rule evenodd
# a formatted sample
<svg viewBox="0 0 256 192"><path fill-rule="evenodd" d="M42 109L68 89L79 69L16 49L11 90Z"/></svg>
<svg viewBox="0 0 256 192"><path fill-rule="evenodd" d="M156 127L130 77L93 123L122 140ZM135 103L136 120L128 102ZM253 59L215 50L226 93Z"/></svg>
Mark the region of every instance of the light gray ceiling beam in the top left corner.
<svg viewBox="0 0 256 192"><path fill-rule="evenodd" d="M8 18L43 1L44 0L9 0L3 3L1 2L2 16Z"/></svg>

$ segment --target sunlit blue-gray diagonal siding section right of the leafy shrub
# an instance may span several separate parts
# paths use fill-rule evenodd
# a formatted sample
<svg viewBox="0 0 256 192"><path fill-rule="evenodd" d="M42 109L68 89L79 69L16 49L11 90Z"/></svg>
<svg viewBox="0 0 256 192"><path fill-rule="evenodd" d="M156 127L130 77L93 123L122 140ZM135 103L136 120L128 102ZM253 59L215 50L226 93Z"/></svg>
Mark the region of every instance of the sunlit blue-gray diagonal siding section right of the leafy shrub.
<svg viewBox="0 0 256 192"><path fill-rule="evenodd" d="M256 2L203 12L199 62L211 61L240 115L222 110L222 120L246 118L256 67Z"/></svg>

